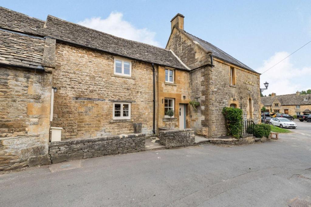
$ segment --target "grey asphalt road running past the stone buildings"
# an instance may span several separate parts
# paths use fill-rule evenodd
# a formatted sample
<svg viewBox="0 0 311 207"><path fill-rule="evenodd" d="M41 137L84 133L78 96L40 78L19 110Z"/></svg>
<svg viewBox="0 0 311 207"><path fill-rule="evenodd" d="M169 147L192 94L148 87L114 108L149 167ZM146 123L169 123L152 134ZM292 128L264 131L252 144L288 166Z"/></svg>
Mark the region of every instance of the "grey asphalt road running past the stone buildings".
<svg viewBox="0 0 311 207"><path fill-rule="evenodd" d="M311 137L289 133L2 174L0 206L287 206L310 189Z"/></svg>

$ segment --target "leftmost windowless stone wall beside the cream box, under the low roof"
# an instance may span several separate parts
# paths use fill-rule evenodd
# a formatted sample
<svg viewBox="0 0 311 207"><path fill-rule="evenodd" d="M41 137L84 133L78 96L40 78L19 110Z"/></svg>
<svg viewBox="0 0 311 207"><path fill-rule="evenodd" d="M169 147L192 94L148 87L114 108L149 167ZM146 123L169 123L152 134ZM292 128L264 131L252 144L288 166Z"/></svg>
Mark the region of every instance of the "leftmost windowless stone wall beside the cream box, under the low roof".
<svg viewBox="0 0 311 207"><path fill-rule="evenodd" d="M49 164L52 74L0 70L0 171Z"/></svg>

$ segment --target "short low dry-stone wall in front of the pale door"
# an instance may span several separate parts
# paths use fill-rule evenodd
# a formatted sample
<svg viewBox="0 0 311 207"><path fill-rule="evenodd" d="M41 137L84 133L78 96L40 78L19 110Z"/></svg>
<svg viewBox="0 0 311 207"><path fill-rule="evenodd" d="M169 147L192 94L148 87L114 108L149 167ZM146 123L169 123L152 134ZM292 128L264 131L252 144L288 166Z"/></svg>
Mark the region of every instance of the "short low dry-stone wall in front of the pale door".
<svg viewBox="0 0 311 207"><path fill-rule="evenodd" d="M194 145L193 129L170 129L159 131L160 143L165 148Z"/></svg>

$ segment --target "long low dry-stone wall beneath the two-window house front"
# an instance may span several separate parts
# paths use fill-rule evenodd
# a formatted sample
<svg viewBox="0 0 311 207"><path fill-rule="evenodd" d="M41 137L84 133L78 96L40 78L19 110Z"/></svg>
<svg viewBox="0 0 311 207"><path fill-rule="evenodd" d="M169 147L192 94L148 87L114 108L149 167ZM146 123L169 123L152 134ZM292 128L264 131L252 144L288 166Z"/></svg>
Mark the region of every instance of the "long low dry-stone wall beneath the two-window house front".
<svg viewBox="0 0 311 207"><path fill-rule="evenodd" d="M49 143L52 163L145 150L145 134L104 136Z"/></svg>

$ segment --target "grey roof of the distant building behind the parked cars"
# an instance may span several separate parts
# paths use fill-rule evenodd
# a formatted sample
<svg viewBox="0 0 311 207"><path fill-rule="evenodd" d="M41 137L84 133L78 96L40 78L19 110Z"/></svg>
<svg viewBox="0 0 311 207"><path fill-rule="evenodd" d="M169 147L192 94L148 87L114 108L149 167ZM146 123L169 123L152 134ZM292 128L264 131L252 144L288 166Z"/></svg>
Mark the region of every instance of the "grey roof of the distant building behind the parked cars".
<svg viewBox="0 0 311 207"><path fill-rule="evenodd" d="M304 101L304 97L308 97L308 100ZM275 97L267 96L260 97L260 100L263 106L272 106L272 103L276 98L282 105L311 105L311 94L297 96L296 93L294 93Z"/></svg>

